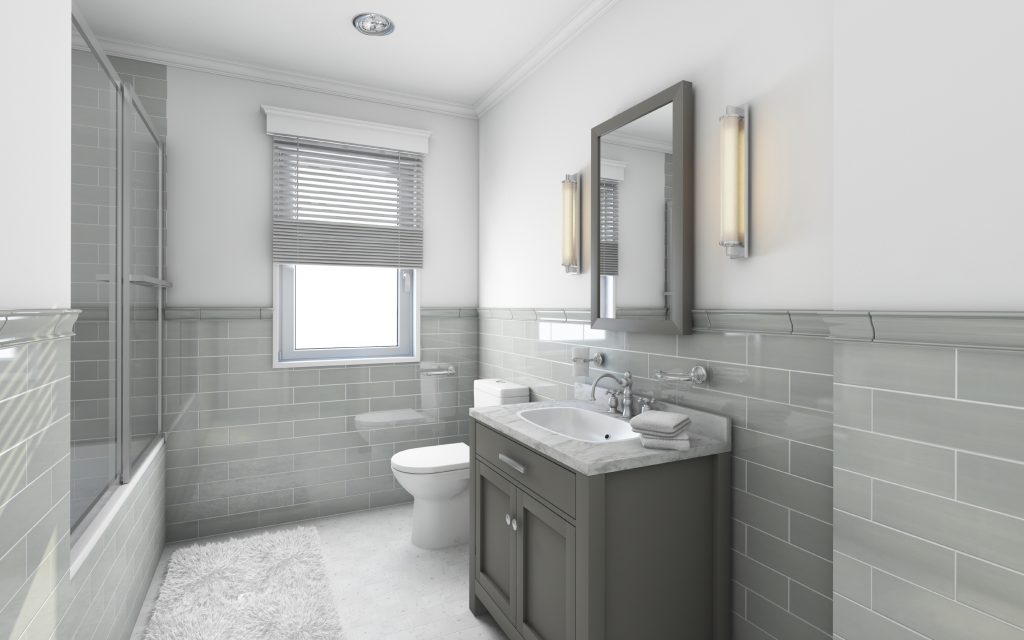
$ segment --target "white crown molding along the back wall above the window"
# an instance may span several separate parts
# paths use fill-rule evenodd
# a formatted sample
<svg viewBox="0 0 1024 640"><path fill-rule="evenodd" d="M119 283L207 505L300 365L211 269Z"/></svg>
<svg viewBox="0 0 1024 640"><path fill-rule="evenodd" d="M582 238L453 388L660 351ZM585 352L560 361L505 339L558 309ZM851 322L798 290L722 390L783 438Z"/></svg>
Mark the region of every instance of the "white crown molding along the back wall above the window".
<svg viewBox="0 0 1024 640"><path fill-rule="evenodd" d="M167 65L168 67L186 69L189 71L200 71L209 74L216 74L218 76L226 76L228 78L238 78L241 80L264 82L276 86L290 87L292 89L316 91L330 95L366 100L368 102L377 102L380 104L390 104L392 106L402 106L406 109L432 112L444 116L456 116L459 118L470 119L475 119L477 117L476 111L473 106L469 104L461 104L459 102L437 100L434 98L414 95L411 93L402 93L399 91L376 89L365 85L332 80L322 76L311 76L280 69L255 67L252 65L232 62L214 57L194 55L191 53L184 53L173 49L152 47L123 40L100 38L99 42L108 54L131 57L146 62Z"/></svg>

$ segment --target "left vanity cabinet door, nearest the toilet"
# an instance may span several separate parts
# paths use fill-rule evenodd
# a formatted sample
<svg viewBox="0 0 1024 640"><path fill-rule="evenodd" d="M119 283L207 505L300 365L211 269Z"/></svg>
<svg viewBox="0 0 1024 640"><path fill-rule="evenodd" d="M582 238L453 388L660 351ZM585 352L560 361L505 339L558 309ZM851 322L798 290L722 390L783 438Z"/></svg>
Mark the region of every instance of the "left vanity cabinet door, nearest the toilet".
<svg viewBox="0 0 1024 640"><path fill-rule="evenodd" d="M476 475L476 580L511 622L515 620L515 486L486 465Z"/></svg>

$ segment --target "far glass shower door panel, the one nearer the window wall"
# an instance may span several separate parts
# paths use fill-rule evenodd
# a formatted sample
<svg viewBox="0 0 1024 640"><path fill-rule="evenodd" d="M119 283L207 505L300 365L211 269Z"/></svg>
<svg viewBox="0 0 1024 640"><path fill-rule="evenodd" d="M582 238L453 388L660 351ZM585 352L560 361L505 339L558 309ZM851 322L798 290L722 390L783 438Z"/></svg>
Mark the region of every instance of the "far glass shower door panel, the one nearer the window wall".
<svg viewBox="0 0 1024 640"><path fill-rule="evenodd" d="M164 211L160 139L130 88L124 90L123 481L161 431Z"/></svg>

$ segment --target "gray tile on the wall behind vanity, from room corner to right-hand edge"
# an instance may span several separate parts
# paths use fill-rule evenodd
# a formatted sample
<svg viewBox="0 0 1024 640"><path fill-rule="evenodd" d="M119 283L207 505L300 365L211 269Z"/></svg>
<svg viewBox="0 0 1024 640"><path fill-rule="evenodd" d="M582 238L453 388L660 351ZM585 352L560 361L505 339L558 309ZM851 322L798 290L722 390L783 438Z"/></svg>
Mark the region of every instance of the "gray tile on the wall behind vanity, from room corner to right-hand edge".
<svg viewBox="0 0 1024 640"><path fill-rule="evenodd" d="M532 399L573 395L573 347L634 374L636 388L733 419L734 637L831 635L833 345L815 312L697 311L690 336L590 328L589 310L480 309L480 375L529 385ZM658 369L703 365L703 385Z"/></svg>

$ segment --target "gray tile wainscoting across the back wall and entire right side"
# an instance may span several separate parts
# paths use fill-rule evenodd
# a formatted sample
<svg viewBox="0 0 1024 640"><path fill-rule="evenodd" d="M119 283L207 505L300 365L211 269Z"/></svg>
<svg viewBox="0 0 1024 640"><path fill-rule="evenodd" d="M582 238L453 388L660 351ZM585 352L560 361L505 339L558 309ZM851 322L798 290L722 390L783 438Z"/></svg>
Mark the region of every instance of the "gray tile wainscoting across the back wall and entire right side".
<svg viewBox="0 0 1024 640"><path fill-rule="evenodd" d="M733 420L733 637L1024 638L1021 318L698 311L665 336L578 310L427 313L423 366L458 370L429 379L273 370L267 311L168 313L172 540L410 500L388 459L463 439L475 378L563 399L630 371ZM575 347L604 365L573 377ZM694 365L706 384L654 375Z"/></svg>

